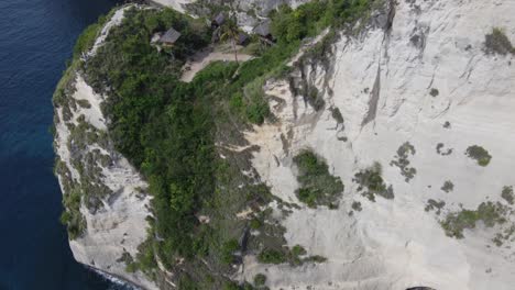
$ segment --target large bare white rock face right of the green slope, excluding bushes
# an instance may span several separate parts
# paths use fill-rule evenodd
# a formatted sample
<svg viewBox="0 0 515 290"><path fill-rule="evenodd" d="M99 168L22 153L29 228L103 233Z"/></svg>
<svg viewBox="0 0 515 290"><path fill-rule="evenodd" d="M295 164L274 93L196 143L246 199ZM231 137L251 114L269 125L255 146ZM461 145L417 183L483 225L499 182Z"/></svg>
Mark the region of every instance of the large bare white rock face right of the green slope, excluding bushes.
<svg viewBox="0 0 515 290"><path fill-rule="evenodd" d="M272 289L513 289L514 242L492 243L502 228L478 223L456 239L439 221L461 205L506 204L502 188L515 185L515 59L483 51L493 27L515 41L514 14L511 0L398 1L391 31L343 35L328 74L320 65L305 67L324 92L324 110L295 98L286 81L269 83L267 93L283 101L271 104L278 121L255 127L248 140L261 147L253 165L272 193L299 203L292 157L303 148L324 157L346 190L338 210L299 203L283 221L289 246L299 244L326 263L292 268L248 257L242 278L263 272ZM343 125L330 107L340 110ZM416 149L409 160L417 174L408 182L390 165L405 142ZM452 154L437 154L438 143ZM464 155L471 145L490 152L489 166ZM354 174L374 161L383 166L394 200L371 202L357 193ZM453 182L452 192L440 189L446 180ZM446 202L440 215L425 211L428 199ZM352 201L363 210L349 216Z"/></svg>

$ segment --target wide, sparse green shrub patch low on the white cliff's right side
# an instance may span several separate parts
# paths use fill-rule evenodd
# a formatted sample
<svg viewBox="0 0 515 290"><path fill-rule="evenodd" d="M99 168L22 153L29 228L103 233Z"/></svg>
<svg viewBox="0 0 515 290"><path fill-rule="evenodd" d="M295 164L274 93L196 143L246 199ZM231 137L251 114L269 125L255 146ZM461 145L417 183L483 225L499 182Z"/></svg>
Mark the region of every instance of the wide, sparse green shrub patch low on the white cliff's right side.
<svg viewBox="0 0 515 290"><path fill-rule="evenodd" d="M440 224L448 236L462 238L463 230L474 228L479 221L482 221L487 227L506 222L505 213L506 208L501 203L487 201L482 202L474 211L461 210L460 212L449 213Z"/></svg>

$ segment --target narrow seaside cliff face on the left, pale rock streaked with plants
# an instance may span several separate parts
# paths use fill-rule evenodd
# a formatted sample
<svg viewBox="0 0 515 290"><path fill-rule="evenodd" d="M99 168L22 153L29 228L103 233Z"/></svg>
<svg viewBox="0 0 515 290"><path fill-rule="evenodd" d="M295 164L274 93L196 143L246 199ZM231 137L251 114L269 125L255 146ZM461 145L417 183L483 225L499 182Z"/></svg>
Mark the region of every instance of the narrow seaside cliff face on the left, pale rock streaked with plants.
<svg viewBox="0 0 515 290"><path fill-rule="evenodd" d="M84 57L95 55L109 30L120 24L123 10L113 14ZM55 100L54 147L74 257L94 269L156 289L142 274L125 269L147 236L147 183L113 148L101 111L107 97L94 92L77 70L67 74L62 100Z"/></svg>

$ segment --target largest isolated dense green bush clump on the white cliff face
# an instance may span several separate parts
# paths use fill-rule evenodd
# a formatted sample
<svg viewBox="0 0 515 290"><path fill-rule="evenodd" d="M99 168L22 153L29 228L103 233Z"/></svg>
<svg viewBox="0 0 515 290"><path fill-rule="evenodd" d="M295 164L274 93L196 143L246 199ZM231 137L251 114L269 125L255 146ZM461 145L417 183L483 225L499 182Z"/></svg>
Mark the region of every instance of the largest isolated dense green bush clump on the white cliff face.
<svg viewBox="0 0 515 290"><path fill-rule="evenodd" d="M298 199L310 208L335 205L343 192L343 183L339 177L329 174L327 164L310 150L302 152L294 161L300 183L296 192Z"/></svg>

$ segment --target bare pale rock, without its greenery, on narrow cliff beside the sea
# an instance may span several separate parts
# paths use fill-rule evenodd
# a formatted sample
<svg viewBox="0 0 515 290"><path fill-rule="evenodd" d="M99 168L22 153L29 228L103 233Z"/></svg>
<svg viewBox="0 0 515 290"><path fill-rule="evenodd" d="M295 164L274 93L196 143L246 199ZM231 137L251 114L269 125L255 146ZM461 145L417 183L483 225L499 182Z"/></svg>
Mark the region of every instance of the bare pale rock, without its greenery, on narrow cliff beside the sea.
<svg viewBox="0 0 515 290"><path fill-rule="evenodd" d="M127 8L121 8L113 14L88 56L94 55L102 45L109 30L121 23ZM75 92L66 97L70 99L68 104L75 103L68 107L69 120L64 116L64 108L56 109L55 150L70 175L58 175L59 183L64 194L68 194L69 192L65 192L64 178L69 178L77 183L84 182L81 179L84 172L74 166L74 161L84 163L86 154L99 152L103 156L109 156L111 161L109 166L105 166L99 160L95 160L95 166L101 169L95 178L112 193L101 200L102 207L95 212L87 209L83 197L80 213L86 221L86 231L80 237L69 242L72 252L75 259L84 265L120 277L145 289L157 289L155 283L142 272L127 272L127 264L120 259L127 253L135 258L138 246L146 239L149 227L146 217L152 215L149 210L147 183L127 158L111 147L106 147L106 144L100 141L88 144L78 153L70 152L70 146L74 145L70 126L79 125L79 118L84 116L84 123L91 125L98 132L107 132L107 121L100 110L106 97L95 93L80 75L75 72L74 75L76 75ZM78 105L80 101L87 102L88 105Z"/></svg>

